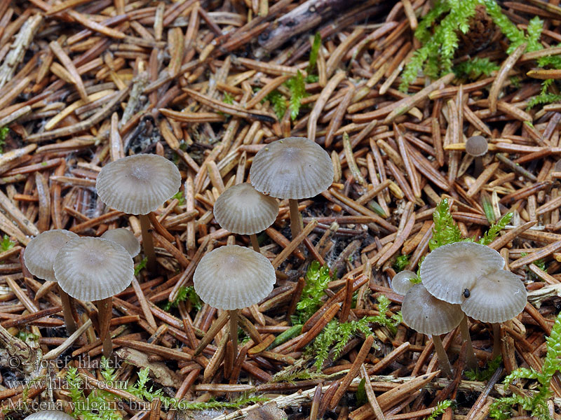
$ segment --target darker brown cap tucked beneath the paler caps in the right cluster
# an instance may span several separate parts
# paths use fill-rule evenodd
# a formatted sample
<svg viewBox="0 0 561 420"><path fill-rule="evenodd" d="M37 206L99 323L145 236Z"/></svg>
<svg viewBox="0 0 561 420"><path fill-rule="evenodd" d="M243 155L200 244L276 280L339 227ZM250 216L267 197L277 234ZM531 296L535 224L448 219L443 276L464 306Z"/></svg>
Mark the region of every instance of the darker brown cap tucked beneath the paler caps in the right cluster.
<svg viewBox="0 0 561 420"><path fill-rule="evenodd" d="M401 314L403 322L426 335L450 332L464 318L459 304L438 300L421 283L415 284L405 293Z"/></svg>

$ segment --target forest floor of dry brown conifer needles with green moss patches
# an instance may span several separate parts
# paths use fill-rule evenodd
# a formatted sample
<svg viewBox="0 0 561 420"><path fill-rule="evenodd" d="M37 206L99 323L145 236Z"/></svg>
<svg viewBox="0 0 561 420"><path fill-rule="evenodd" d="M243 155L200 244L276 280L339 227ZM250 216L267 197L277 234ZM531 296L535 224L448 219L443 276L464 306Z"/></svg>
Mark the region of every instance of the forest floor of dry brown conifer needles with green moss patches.
<svg viewBox="0 0 561 420"><path fill-rule="evenodd" d="M0 0L0 416L560 418L558 3ZM478 136L487 153L466 153ZM322 146L334 179L279 200L251 244L212 208L286 137ZM102 167L142 153L181 176L143 223L95 191ZM135 257L110 321L71 302L68 335L25 247L115 228L154 241L156 267ZM441 337L447 378L390 286L466 238L500 253L528 301L495 328L468 321L480 370L464 371L460 327ZM260 249L276 285L229 340L227 312L192 285L204 255L234 244Z"/></svg>

